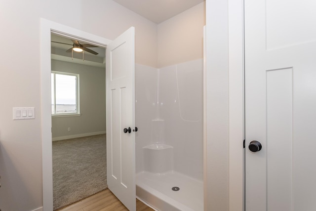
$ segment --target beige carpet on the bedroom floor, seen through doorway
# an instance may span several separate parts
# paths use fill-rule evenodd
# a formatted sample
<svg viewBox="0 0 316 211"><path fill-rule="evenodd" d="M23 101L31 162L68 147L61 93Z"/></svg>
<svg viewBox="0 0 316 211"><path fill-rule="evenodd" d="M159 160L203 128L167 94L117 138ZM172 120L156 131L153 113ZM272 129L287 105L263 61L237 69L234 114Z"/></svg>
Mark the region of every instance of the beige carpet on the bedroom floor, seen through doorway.
<svg viewBox="0 0 316 211"><path fill-rule="evenodd" d="M108 187L106 135L53 141L54 210Z"/></svg>

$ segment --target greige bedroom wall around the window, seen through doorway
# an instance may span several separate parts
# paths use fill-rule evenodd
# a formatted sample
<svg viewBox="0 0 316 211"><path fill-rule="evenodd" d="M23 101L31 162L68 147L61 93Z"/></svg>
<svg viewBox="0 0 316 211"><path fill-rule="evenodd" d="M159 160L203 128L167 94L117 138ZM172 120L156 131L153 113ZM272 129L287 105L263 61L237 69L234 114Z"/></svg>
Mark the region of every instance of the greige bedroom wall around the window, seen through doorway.
<svg viewBox="0 0 316 211"><path fill-rule="evenodd" d="M79 74L80 100L80 116L52 118L52 137L60 140L79 134L104 132L106 130L105 68L52 60L51 69ZM68 127L71 127L71 131L68 131Z"/></svg>

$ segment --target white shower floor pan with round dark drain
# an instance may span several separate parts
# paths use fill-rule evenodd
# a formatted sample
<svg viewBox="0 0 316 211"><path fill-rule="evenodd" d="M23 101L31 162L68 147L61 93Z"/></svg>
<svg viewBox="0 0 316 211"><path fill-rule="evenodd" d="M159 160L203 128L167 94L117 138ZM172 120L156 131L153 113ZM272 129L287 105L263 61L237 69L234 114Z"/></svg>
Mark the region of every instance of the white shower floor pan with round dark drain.
<svg viewBox="0 0 316 211"><path fill-rule="evenodd" d="M203 182L175 171L136 174L136 195L157 211L203 211Z"/></svg>

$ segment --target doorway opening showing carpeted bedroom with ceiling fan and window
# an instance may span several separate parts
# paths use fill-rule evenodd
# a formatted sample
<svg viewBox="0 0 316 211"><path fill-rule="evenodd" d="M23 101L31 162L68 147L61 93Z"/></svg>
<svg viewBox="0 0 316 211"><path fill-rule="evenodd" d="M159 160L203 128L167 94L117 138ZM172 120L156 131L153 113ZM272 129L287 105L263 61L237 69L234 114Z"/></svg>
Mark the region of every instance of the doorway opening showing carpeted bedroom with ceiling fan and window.
<svg viewBox="0 0 316 211"><path fill-rule="evenodd" d="M53 205L57 210L108 187L105 48L52 34L51 70Z"/></svg>

